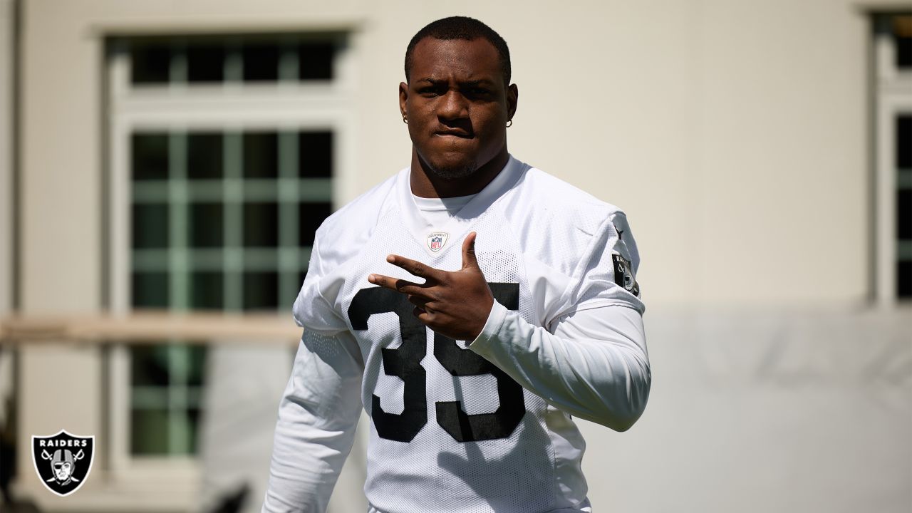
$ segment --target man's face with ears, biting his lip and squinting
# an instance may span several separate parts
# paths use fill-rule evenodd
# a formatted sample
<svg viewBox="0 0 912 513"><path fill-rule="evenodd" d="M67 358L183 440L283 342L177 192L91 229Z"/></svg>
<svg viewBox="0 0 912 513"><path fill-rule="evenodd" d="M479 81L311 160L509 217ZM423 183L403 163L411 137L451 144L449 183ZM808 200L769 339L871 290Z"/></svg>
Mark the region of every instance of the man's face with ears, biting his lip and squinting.
<svg viewBox="0 0 912 513"><path fill-rule="evenodd" d="M421 161L441 178L474 173L506 153L506 122L516 86L503 83L497 49L486 39L422 39L412 54L399 108Z"/></svg>

